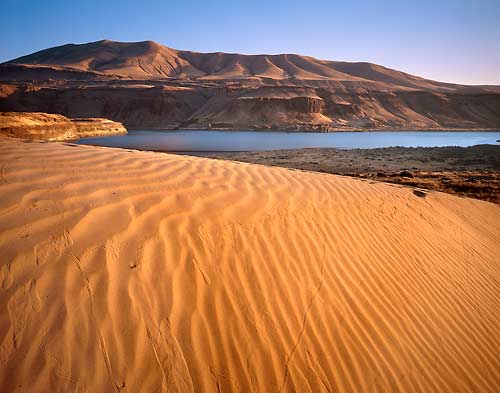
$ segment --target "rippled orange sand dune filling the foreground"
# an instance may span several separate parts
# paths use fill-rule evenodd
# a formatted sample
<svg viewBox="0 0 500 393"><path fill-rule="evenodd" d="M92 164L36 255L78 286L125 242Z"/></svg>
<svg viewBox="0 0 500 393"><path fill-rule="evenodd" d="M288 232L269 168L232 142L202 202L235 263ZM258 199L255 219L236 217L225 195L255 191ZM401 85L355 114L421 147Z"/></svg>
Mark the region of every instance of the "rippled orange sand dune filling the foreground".
<svg viewBox="0 0 500 393"><path fill-rule="evenodd" d="M0 139L0 387L498 392L500 208Z"/></svg>

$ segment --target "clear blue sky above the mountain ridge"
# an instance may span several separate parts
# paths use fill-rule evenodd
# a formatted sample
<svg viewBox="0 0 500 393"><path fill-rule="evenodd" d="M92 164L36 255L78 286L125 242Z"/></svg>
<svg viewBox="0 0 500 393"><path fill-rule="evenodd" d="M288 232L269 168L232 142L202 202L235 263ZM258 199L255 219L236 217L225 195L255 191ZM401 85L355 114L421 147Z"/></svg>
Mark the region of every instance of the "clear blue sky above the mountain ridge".
<svg viewBox="0 0 500 393"><path fill-rule="evenodd" d="M0 0L0 62L102 39L298 53L500 85L500 0Z"/></svg>

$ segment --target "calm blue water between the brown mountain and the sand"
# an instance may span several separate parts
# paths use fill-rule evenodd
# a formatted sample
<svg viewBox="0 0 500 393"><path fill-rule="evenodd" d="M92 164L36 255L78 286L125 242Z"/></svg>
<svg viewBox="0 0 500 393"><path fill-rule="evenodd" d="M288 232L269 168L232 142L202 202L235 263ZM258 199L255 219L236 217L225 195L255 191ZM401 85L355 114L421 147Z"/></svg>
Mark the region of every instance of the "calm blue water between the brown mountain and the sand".
<svg viewBox="0 0 500 393"><path fill-rule="evenodd" d="M157 151L250 151L335 147L433 147L496 144L500 132L490 131L129 131L127 135L80 139L84 145Z"/></svg>

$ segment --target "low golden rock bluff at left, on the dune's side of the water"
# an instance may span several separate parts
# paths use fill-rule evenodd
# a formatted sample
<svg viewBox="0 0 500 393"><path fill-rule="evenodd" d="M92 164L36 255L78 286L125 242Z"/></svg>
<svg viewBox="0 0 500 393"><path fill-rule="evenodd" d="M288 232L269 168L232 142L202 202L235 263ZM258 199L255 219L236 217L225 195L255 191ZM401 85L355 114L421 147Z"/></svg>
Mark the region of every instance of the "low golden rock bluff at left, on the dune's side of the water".
<svg viewBox="0 0 500 393"><path fill-rule="evenodd" d="M0 134L15 138L61 141L126 133L121 123L107 119L68 119L49 113L0 112Z"/></svg>

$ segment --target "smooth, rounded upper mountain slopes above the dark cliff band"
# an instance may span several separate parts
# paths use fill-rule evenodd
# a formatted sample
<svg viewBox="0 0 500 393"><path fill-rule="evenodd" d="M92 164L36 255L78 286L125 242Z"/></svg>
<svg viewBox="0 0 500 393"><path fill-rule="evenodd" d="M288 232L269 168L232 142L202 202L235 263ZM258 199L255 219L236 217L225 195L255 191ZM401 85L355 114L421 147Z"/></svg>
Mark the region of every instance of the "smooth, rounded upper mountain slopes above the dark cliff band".
<svg viewBox="0 0 500 393"><path fill-rule="evenodd" d="M242 55L180 51L153 41L97 41L49 48L8 63L64 66L129 78L271 78L369 81L418 89L453 88L371 63L318 60L296 54Z"/></svg>

